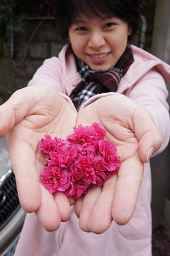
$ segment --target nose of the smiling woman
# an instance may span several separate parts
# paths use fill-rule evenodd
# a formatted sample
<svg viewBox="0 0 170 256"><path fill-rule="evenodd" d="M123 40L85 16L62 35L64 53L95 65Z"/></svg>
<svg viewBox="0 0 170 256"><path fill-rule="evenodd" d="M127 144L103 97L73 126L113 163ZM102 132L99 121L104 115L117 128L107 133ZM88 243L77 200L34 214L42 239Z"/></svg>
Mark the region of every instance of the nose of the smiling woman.
<svg viewBox="0 0 170 256"><path fill-rule="evenodd" d="M89 47L98 49L106 44L105 37L101 31L93 31L89 38Z"/></svg>

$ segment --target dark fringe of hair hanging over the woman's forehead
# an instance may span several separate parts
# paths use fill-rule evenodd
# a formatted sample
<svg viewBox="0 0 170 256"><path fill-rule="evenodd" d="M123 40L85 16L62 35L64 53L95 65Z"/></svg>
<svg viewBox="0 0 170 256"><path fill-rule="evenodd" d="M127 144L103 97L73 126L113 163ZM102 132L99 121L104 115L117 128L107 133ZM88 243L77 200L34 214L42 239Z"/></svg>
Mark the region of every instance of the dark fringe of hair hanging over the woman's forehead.
<svg viewBox="0 0 170 256"><path fill-rule="evenodd" d="M102 18L115 15L107 1L98 0L74 0L69 3L68 9L71 15L71 23L76 23L78 18Z"/></svg>

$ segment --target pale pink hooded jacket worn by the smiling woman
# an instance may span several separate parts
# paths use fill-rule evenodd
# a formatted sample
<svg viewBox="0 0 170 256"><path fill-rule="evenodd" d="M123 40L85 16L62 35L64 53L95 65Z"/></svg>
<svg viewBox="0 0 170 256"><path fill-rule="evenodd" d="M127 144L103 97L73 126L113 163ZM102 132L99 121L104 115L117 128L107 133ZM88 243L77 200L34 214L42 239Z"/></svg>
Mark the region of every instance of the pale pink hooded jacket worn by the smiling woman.
<svg viewBox="0 0 170 256"><path fill-rule="evenodd" d="M170 67L155 56L133 46L134 63L122 78L117 93L125 94L142 104L152 115L163 138L163 145L156 153L163 151L169 141L169 113L166 98L170 85ZM74 57L67 54L64 46L59 58L44 61L28 85L49 85L71 102L68 97L74 86L81 81ZM99 97L90 98L81 108ZM114 109L113 109L114 111ZM113 221L103 234L85 233L78 227L78 219L72 212L71 219L62 223L56 232L46 232L34 213L27 214L15 256L151 256L151 170L150 163L144 166L143 183L138 202L125 226ZM29 245L29 249L26 249Z"/></svg>

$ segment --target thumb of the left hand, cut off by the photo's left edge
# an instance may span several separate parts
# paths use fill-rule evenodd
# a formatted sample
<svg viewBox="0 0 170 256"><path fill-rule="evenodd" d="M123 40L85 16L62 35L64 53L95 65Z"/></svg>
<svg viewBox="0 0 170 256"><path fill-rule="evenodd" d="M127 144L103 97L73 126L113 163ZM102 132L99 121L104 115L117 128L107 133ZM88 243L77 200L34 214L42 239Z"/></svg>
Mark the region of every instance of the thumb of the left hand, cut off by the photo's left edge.
<svg viewBox="0 0 170 256"><path fill-rule="evenodd" d="M34 104L31 88L17 90L0 106L0 137L5 136L14 125L28 114Z"/></svg>

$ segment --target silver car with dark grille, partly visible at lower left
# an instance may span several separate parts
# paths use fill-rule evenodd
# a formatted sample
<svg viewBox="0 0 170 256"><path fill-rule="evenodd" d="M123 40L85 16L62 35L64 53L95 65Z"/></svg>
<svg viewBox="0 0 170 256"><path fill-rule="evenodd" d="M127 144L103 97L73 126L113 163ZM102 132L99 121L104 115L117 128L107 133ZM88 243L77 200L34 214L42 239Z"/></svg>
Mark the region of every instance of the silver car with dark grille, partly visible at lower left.
<svg viewBox="0 0 170 256"><path fill-rule="evenodd" d="M0 256L9 254L18 240L25 213L20 208L6 138L0 138Z"/></svg>

